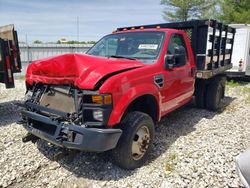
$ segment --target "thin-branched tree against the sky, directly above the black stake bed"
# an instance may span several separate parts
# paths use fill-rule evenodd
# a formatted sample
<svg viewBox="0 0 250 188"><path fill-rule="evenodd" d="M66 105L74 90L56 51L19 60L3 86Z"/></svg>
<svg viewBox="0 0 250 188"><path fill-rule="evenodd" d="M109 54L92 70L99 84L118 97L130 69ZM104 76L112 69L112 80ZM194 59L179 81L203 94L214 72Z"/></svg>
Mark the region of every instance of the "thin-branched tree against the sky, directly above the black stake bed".
<svg viewBox="0 0 250 188"><path fill-rule="evenodd" d="M165 5L163 18L166 21L214 18L218 0L161 0Z"/></svg>

